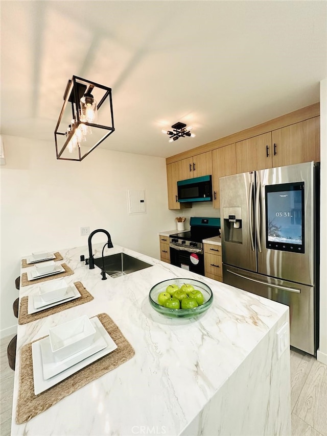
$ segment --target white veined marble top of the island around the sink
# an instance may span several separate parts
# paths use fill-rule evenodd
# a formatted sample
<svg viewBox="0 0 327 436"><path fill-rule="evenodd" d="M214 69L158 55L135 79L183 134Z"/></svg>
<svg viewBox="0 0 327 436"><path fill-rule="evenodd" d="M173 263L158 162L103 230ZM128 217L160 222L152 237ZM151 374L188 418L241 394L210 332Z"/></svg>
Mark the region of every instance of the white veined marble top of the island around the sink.
<svg viewBox="0 0 327 436"><path fill-rule="evenodd" d="M102 246L93 246L95 257L101 256ZM18 325L12 436L131 435L141 434L142 426L164 429L161 434L169 436L182 434L269 331L288 316L287 306L116 245L105 255L125 252L153 266L102 281L99 268L89 270L80 261L81 254L88 257L87 247L54 251L63 256L59 263L74 271L65 280L80 280L94 300ZM151 287L174 277L201 280L212 288L213 305L201 318L169 319L150 306ZM22 287L20 297L37 292L38 286ZM119 326L135 350L134 357L27 423L15 424L20 347L58 324L102 312Z"/></svg>

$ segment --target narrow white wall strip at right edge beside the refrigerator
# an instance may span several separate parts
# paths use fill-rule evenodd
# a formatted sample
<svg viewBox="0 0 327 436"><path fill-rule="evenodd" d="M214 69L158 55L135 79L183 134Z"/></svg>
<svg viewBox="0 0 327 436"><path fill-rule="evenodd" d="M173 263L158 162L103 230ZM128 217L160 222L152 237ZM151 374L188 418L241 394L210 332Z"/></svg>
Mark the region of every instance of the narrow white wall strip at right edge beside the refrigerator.
<svg viewBox="0 0 327 436"><path fill-rule="evenodd" d="M327 365L327 78L320 82L320 338L317 359Z"/></svg>

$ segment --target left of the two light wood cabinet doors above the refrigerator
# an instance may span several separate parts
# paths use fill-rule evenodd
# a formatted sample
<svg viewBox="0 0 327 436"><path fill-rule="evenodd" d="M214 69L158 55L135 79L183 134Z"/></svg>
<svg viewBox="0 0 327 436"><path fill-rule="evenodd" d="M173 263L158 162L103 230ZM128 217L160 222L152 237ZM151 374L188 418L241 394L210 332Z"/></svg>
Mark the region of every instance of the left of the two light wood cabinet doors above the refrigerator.
<svg viewBox="0 0 327 436"><path fill-rule="evenodd" d="M236 172L271 168L271 156L271 132L236 142Z"/></svg>

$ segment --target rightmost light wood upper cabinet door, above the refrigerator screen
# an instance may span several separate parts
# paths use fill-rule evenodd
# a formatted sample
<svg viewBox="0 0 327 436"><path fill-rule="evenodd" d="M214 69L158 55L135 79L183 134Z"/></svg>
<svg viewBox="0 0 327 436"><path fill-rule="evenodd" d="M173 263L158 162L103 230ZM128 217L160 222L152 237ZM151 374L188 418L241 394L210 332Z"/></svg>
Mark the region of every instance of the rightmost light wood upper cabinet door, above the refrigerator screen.
<svg viewBox="0 0 327 436"><path fill-rule="evenodd" d="M272 166L320 162L320 116L272 131Z"/></svg>

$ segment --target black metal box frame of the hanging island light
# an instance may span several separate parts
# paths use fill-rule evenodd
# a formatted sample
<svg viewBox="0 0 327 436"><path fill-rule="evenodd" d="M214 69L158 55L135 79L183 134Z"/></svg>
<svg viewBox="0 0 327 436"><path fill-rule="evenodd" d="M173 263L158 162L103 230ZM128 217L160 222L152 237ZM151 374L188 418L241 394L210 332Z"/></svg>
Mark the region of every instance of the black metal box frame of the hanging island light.
<svg viewBox="0 0 327 436"><path fill-rule="evenodd" d="M85 83L87 85L85 85ZM69 141L74 136L76 129L79 127L80 124L82 124L82 122L80 120L80 99L84 95L86 89L87 89L86 92L90 93L94 88L100 88L100 89L103 89L105 91L102 99L97 104L98 111L101 108L101 106L103 105L103 103L107 99L109 99L111 127L100 125L97 123L83 122L83 124L85 124L86 126L90 126L92 128L97 128L97 129L104 129L104 130L107 130L108 133L105 134L100 140L98 140L94 144L94 146L92 146L90 148L90 150L88 150L84 155L81 154L81 149L80 149L80 147L78 147L78 159L77 158L61 157L62 153L65 151L66 147L68 146ZM71 103L71 105L72 105L72 116L73 116L73 118L75 118L76 123L75 123L74 127L72 128L72 131L69 132L69 134L67 135L66 132L58 132L58 129L60 126L61 118L65 112L65 108L66 108L68 102ZM55 128L55 142L56 142L57 159L75 160L75 161L83 160L88 154L90 154L94 149L96 149L101 144L101 142L103 142L109 135L111 135L111 133L113 133L114 130L115 129L114 129L114 124L113 124L111 88L108 88L107 86L104 86L104 85L100 85L99 83L96 83L96 82L91 82L90 80L82 79L81 77L73 76L72 79L69 80L67 83L67 87L66 87L66 90L64 93L64 103L63 103L63 106L62 106L62 109L61 109L61 112L59 115L59 119L58 119L58 122L57 122L57 125ZM61 150L59 150L57 139L58 139L58 136L62 136L62 135L67 136L67 139L65 140L65 143L64 143L63 147L61 148Z"/></svg>

